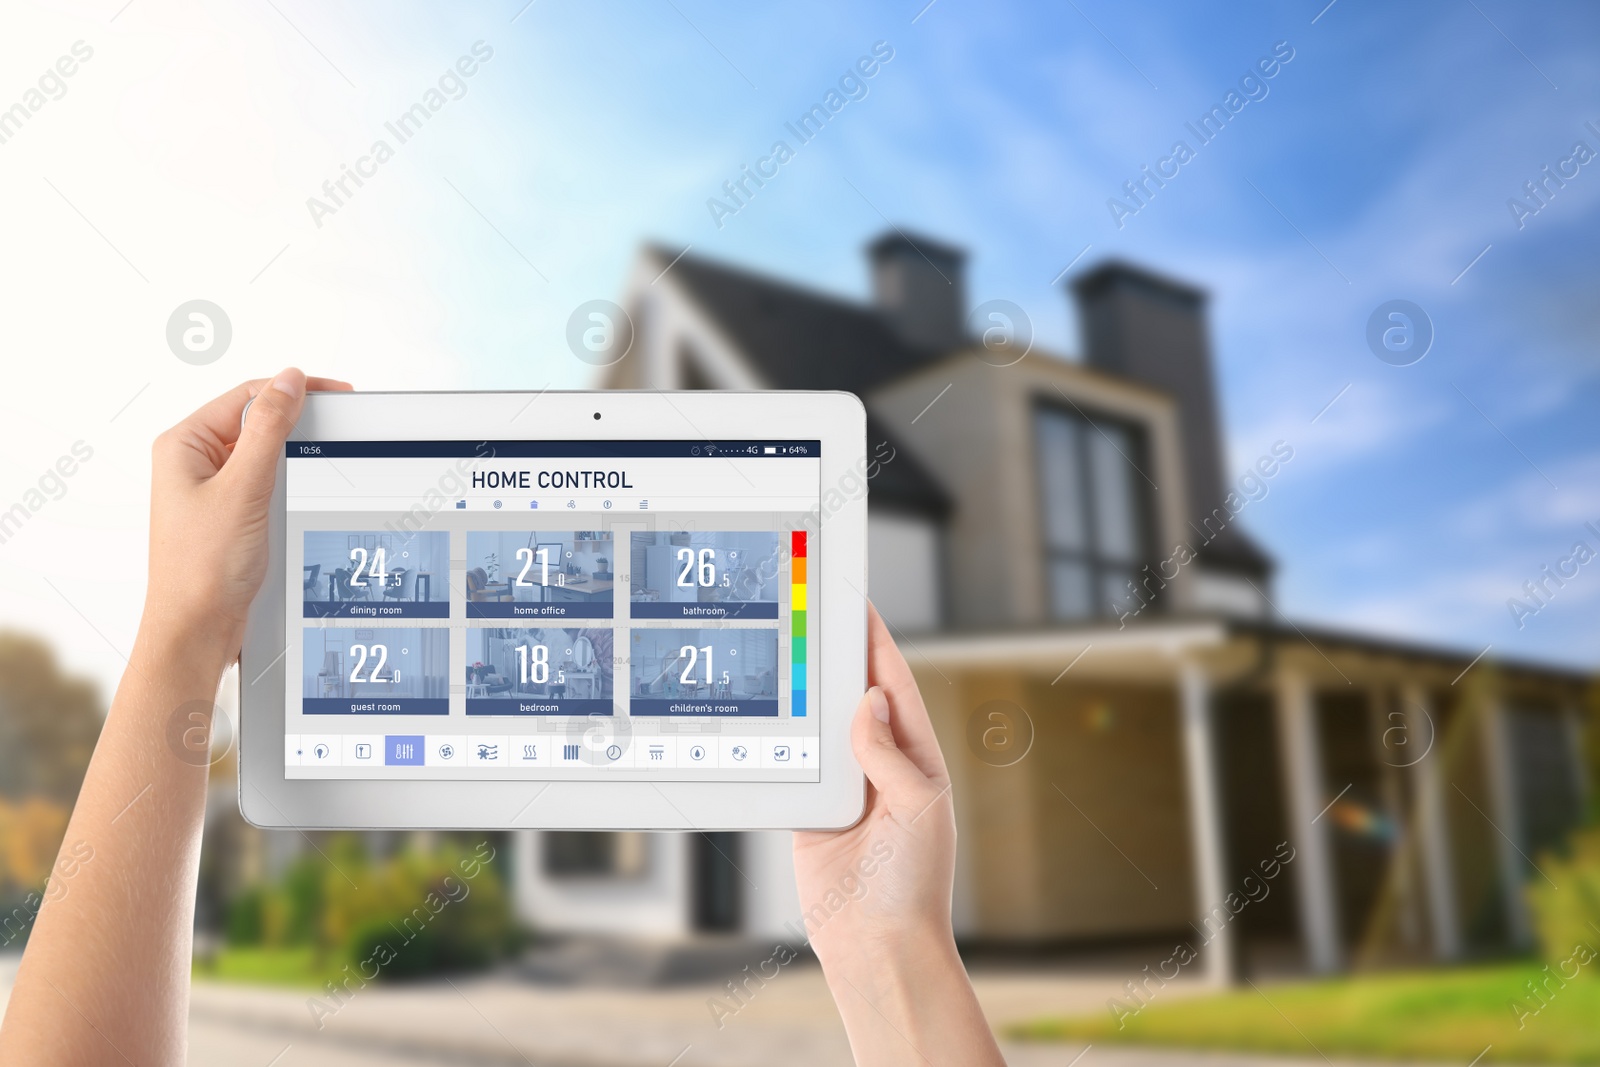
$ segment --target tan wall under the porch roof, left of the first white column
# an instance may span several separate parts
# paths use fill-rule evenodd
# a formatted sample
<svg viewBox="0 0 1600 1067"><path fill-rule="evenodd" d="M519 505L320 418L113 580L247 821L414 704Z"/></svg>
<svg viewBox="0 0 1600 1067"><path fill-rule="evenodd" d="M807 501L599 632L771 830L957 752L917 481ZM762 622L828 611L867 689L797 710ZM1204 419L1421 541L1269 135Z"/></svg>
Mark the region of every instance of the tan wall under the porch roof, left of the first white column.
<svg viewBox="0 0 1600 1067"><path fill-rule="evenodd" d="M1051 686L1013 672L941 675L926 662L914 670L950 768L958 937L1094 939L1186 928L1195 913L1194 873L1171 688ZM990 701L1021 707L1032 723L1034 745L1011 766L979 760L968 741L971 717L982 717Z"/></svg>

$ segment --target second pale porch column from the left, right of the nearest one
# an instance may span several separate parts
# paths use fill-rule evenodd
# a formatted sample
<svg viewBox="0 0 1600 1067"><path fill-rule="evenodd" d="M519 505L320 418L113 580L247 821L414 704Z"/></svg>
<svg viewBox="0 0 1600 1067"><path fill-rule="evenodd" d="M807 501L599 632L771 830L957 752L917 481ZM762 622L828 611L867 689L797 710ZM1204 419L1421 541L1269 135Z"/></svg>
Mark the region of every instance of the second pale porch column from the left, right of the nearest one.
<svg viewBox="0 0 1600 1067"><path fill-rule="evenodd" d="M1342 957L1333 841L1328 837L1325 814L1333 795L1322 781L1322 742L1317 737L1317 709L1310 681L1293 667L1285 667L1278 673L1277 696L1290 845L1294 848L1291 865L1299 886L1301 937L1306 941L1310 969L1326 974L1339 969Z"/></svg>

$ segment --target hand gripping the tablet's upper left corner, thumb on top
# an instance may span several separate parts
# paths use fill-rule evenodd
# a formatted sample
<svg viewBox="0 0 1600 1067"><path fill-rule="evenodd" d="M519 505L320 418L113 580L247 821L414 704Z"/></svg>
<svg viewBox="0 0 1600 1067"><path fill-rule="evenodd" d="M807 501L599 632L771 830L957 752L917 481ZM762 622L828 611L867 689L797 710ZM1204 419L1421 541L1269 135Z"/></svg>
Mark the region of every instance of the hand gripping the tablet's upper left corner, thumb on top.
<svg viewBox="0 0 1600 1067"><path fill-rule="evenodd" d="M267 571L278 458L307 389L350 386L290 368L222 394L155 438L147 629L224 664L238 654Z"/></svg>

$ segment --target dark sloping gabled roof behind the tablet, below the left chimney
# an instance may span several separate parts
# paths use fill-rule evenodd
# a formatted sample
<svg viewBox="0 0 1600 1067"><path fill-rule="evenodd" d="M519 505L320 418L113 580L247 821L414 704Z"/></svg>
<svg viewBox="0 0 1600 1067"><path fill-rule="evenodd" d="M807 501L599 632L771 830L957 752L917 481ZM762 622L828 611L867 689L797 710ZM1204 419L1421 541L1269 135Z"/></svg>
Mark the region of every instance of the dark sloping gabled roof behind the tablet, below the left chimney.
<svg viewBox="0 0 1600 1067"><path fill-rule="evenodd" d="M661 246L651 251L662 266L675 254ZM906 344L864 304L744 269L683 256L672 267L672 280L717 320L773 389L842 389L864 395L944 355ZM888 456L893 459L883 462ZM874 502L934 515L950 510L950 496L939 480L872 416L867 416L867 461L878 461L870 488Z"/></svg>

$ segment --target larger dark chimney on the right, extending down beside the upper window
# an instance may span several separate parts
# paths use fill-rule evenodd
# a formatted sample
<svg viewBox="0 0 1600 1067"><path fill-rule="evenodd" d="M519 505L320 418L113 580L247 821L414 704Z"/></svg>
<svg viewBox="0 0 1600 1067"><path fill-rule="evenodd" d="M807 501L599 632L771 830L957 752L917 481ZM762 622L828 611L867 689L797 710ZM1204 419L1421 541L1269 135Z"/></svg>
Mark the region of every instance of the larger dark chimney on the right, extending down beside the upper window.
<svg viewBox="0 0 1600 1067"><path fill-rule="evenodd" d="M1205 291L1114 261L1074 280L1072 294L1088 365L1178 402L1190 517L1221 507L1224 456Z"/></svg>

